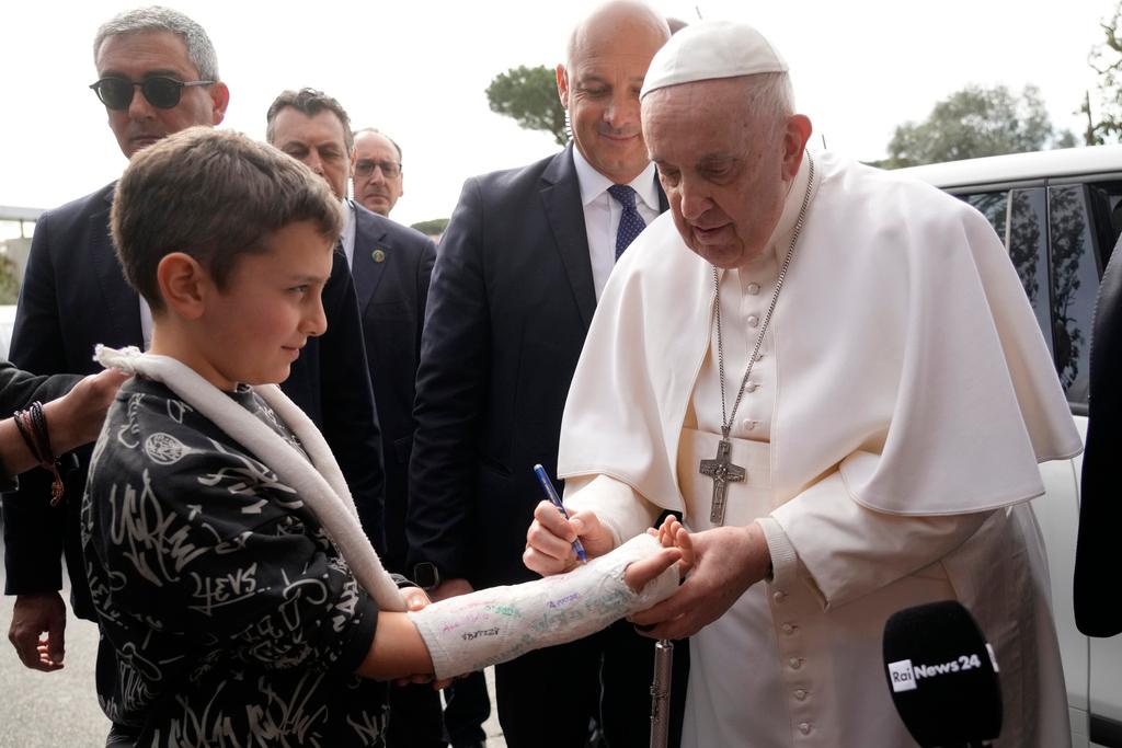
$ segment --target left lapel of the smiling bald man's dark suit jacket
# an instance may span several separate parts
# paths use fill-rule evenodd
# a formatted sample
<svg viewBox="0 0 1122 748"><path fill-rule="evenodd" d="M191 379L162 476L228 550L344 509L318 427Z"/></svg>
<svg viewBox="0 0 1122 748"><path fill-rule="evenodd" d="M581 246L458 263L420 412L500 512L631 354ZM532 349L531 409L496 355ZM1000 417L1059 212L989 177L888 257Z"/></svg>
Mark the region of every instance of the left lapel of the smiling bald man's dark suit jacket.
<svg viewBox="0 0 1122 748"><path fill-rule="evenodd" d="M588 257L588 231L585 229L580 184L572 163L572 144L545 167L541 195L545 218L587 330L596 312L596 286L592 283L592 262Z"/></svg>

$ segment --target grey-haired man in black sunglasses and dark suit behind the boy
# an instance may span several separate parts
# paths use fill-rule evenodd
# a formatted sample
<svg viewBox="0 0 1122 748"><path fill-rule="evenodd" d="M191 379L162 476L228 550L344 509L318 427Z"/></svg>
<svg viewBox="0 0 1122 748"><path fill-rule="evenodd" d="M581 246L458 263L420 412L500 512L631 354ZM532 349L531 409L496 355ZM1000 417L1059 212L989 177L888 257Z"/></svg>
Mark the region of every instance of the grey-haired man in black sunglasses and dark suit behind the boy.
<svg viewBox="0 0 1122 748"><path fill-rule="evenodd" d="M229 91L219 80L214 49L206 33L177 11L147 8L113 18L98 31L95 63L94 90L126 157L173 132L223 119ZM12 332L18 366L90 373L99 369L95 343L145 347L149 339L150 311L126 284L109 238L112 195L110 184L44 213L36 224ZM284 389L324 431L356 504L380 526L377 417L355 288L341 256L323 303L329 330L309 341ZM43 632L48 649L62 656L65 606L57 591L64 548L75 613L92 618L77 521L88 463L89 450L66 477L71 500L58 507L36 500L44 488L35 473L3 502L7 593L17 595L9 638L25 662Z"/></svg>

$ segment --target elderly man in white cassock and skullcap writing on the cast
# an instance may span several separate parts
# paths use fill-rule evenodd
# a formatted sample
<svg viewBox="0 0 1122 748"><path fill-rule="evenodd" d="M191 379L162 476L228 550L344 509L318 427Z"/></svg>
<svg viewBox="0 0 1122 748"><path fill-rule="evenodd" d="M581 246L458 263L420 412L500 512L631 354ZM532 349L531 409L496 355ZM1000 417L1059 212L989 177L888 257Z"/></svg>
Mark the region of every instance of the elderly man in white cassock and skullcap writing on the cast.
<svg viewBox="0 0 1122 748"><path fill-rule="evenodd" d="M683 745L913 746L881 637L957 599L994 645L1003 746L1069 744L1039 461L1080 442L986 220L804 150L788 67L743 25L663 47L643 132L671 210L600 299L565 407L555 573L684 512L696 563L634 616L690 639Z"/></svg>

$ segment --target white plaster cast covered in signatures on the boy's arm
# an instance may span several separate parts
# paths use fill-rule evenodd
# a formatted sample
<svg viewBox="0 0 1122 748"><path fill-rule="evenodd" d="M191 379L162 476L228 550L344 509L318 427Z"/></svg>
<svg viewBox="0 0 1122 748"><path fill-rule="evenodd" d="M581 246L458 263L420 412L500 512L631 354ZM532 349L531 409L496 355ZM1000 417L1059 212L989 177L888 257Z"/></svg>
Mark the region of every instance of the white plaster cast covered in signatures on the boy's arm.
<svg viewBox="0 0 1122 748"><path fill-rule="evenodd" d="M669 598L678 589L678 564L638 592L624 581L628 564L661 548L653 536L637 535L565 574L449 598L410 612L410 619L429 647L438 678L482 669L574 641Z"/></svg>

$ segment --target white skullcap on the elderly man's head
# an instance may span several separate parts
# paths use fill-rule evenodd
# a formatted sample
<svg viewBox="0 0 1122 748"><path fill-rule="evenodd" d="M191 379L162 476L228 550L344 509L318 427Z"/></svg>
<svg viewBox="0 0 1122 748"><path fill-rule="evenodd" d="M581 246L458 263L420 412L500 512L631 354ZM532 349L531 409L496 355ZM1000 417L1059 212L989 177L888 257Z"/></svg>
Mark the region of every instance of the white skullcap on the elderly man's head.
<svg viewBox="0 0 1122 748"><path fill-rule="evenodd" d="M785 72L787 61L753 27L701 21L687 26L659 49L646 71L640 98L655 89L695 81Z"/></svg>

